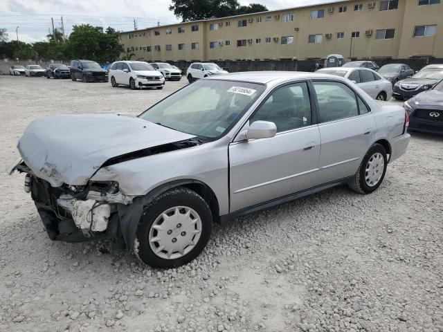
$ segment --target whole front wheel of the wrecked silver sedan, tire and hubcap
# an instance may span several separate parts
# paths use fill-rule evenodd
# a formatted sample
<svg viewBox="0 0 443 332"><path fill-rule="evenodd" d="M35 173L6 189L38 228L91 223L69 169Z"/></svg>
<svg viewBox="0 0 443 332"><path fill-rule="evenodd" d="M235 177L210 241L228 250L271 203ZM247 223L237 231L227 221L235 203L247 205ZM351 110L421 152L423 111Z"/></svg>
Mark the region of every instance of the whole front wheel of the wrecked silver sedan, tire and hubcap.
<svg viewBox="0 0 443 332"><path fill-rule="evenodd" d="M178 187L144 207L134 252L154 268L173 268L195 259L213 227L208 203L196 192Z"/></svg>

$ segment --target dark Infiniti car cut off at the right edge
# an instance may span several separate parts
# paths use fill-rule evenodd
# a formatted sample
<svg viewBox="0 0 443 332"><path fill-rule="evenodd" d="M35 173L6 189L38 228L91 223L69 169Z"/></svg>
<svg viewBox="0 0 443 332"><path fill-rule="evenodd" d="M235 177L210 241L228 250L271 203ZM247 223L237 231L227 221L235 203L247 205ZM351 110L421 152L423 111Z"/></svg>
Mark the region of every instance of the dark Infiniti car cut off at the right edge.
<svg viewBox="0 0 443 332"><path fill-rule="evenodd" d="M443 134L443 80L404 102L410 129Z"/></svg>

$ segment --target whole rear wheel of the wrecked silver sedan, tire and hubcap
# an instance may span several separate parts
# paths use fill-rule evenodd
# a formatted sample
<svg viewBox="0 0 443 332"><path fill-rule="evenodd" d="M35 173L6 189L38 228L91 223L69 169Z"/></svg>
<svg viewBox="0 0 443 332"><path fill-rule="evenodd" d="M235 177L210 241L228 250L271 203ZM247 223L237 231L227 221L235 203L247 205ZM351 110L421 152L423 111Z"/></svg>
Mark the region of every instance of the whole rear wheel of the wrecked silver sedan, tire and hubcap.
<svg viewBox="0 0 443 332"><path fill-rule="evenodd" d="M383 145L374 144L361 160L361 164L349 187L360 194L377 190L386 174L388 158Z"/></svg>

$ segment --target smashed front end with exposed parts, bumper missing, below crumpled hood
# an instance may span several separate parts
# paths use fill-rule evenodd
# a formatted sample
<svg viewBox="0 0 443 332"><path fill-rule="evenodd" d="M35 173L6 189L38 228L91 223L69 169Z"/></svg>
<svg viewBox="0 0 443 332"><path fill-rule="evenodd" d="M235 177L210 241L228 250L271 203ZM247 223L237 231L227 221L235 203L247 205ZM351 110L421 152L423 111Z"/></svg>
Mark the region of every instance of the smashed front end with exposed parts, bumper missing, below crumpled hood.
<svg viewBox="0 0 443 332"><path fill-rule="evenodd" d="M129 205L132 199L120 192L115 181L52 187L24 162L14 170L26 173L24 189L30 192L50 239L82 242L121 236L118 205Z"/></svg>

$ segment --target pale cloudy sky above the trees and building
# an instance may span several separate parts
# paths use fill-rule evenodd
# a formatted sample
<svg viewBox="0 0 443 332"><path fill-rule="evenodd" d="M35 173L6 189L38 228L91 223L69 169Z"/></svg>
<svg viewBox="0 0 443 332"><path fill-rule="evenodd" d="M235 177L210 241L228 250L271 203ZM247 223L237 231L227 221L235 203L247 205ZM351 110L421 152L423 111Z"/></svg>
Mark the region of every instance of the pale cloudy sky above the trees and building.
<svg viewBox="0 0 443 332"><path fill-rule="evenodd" d="M333 0L239 0L242 5L262 3L269 10L306 6L314 3L327 3ZM138 29L172 24L181 21L168 10L170 0L1 0L0 28L8 29L10 39L21 42L46 40L52 29L64 21L65 34L72 32L74 24L111 26L116 30L134 30L134 18Z"/></svg>

